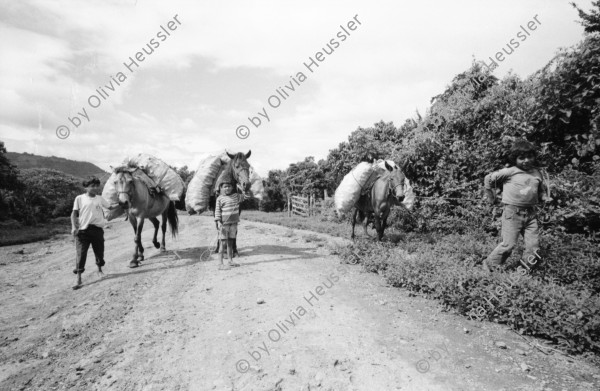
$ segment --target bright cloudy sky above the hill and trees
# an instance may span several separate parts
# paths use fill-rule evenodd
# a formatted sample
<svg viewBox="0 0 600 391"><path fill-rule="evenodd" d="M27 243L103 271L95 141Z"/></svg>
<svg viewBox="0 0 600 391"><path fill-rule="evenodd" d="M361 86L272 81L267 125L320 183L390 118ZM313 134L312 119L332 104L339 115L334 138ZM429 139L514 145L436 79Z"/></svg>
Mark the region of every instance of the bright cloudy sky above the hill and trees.
<svg viewBox="0 0 600 391"><path fill-rule="evenodd" d="M0 140L103 169L139 152L195 169L207 153L252 150L264 175L326 157L359 126L424 113L537 15L494 71L530 75L582 39L570 1L1 0Z"/></svg>

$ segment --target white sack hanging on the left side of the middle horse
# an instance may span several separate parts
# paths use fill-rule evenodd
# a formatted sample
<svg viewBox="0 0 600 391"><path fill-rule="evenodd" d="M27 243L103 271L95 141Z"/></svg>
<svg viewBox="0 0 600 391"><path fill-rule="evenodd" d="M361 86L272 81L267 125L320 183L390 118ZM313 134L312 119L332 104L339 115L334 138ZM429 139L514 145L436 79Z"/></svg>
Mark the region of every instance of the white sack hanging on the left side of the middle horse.
<svg viewBox="0 0 600 391"><path fill-rule="evenodd" d="M225 164L222 156L213 155L200 162L185 195L185 208L188 212L193 210L202 213L208 209L208 201L214 191L215 181Z"/></svg>

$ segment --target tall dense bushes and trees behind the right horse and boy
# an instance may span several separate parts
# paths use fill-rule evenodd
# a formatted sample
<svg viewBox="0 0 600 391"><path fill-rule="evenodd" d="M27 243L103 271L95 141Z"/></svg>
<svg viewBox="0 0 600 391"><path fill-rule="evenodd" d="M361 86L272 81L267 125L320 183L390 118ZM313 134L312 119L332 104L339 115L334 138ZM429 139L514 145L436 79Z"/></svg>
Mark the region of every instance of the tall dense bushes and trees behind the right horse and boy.
<svg viewBox="0 0 600 391"><path fill-rule="evenodd" d="M595 31L595 17L586 15L580 14ZM426 116L417 113L399 128L384 121L359 127L327 159L307 158L278 171L271 195L333 194L362 156L374 151L402 164L418 196L418 217L393 217L420 231L492 232L493 216L480 201L483 178L505 167L512 143L525 138L539 147L538 162L553 185L546 228L594 232L600 228L594 194L600 187L599 69L599 34L561 50L525 79L509 74L498 80L474 62L432 99ZM476 84L476 78L485 81Z"/></svg>

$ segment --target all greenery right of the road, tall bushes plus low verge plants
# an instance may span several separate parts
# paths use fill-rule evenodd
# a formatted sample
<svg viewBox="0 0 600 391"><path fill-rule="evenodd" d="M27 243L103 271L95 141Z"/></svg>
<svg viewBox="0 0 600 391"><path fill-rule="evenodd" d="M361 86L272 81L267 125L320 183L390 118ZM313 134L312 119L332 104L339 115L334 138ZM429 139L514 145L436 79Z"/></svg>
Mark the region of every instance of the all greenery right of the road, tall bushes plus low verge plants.
<svg viewBox="0 0 600 391"><path fill-rule="evenodd" d="M270 171L260 209L280 212L242 217L349 238L347 220L333 218L331 205L309 218L281 211L290 194L332 195L362 156L377 152L402 165L416 205L392 210L386 241L357 240L338 249L342 259L471 319L507 324L599 362L600 1L593 7L578 10L584 40L543 69L499 80L474 62L424 115L399 127L359 127L326 159ZM541 260L524 267L518 248L506 270L486 274L480 264L500 240L501 210L483 203L483 178L504 167L519 138L539 147L550 179L552 201L539 214Z"/></svg>

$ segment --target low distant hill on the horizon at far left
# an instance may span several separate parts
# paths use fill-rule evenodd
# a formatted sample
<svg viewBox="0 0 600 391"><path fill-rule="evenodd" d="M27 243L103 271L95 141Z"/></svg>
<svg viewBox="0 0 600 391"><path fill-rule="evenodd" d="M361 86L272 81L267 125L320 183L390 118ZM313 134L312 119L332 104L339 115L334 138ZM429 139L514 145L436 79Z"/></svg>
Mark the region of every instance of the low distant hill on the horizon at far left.
<svg viewBox="0 0 600 391"><path fill-rule="evenodd" d="M19 169L53 168L78 178L87 178L91 175L101 177L106 173L106 171L95 164L56 156L39 156L27 152L7 152L6 157Z"/></svg>

